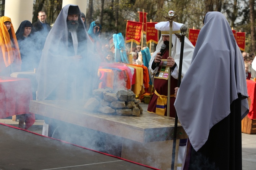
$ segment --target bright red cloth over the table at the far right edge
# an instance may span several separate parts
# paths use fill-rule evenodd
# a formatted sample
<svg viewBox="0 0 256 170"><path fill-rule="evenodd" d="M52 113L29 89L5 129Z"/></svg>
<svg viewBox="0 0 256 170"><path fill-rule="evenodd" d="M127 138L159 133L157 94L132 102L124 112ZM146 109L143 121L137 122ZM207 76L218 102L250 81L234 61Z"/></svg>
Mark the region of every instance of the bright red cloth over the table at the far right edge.
<svg viewBox="0 0 256 170"><path fill-rule="evenodd" d="M249 119L256 119L256 82L252 80L247 80L247 91L248 91L248 96L251 99L251 105L250 105L250 110L248 113L248 118Z"/></svg>

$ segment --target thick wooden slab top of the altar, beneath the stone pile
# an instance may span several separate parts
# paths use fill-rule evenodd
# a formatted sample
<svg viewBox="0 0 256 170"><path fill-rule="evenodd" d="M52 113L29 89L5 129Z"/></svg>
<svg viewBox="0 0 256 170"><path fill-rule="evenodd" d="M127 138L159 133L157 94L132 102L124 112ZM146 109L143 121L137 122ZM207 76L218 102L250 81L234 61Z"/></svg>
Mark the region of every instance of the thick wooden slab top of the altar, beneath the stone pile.
<svg viewBox="0 0 256 170"><path fill-rule="evenodd" d="M30 101L29 112L142 143L173 140L174 118L152 113L120 116L87 112L72 101ZM187 135L180 123L177 139Z"/></svg>

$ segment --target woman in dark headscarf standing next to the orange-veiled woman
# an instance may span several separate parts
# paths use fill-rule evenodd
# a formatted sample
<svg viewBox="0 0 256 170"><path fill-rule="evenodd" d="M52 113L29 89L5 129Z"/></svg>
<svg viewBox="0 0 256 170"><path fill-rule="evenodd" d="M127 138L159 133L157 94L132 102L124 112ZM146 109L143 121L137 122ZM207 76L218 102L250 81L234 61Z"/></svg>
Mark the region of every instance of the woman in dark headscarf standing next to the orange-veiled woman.
<svg viewBox="0 0 256 170"><path fill-rule="evenodd" d="M21 71L34 70L38 67L39 59L36 58L36 41L33 38L34 27L28 20L22 21L16 31L16 37L21 54Z"/></svg>

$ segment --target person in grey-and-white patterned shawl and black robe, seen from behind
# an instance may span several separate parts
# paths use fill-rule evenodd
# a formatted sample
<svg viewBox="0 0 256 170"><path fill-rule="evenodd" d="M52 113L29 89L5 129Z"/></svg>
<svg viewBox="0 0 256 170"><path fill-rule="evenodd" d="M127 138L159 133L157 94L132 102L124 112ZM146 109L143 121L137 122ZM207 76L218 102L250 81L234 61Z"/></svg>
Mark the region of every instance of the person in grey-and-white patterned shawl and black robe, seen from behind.
<svg viewBox="0 0 256 170"><path fill-rule="evenodd" d="M174 106L189 142L183 170L241 170L248 114L243 56L220 12L207 12Z"/></svg>

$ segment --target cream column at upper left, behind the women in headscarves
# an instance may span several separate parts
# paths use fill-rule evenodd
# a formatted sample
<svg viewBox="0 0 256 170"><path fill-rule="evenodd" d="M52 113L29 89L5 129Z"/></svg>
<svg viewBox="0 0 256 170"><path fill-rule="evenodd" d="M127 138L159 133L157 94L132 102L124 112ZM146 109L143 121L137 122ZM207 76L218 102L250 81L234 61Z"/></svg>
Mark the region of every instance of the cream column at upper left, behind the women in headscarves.
<svg viewBox="0 0 256 170"><path fill-rule="evenodd" d="M32 22L33 0L7 0L5 1L5 15L11 18L14 30L18 29L22 21Z"/></svg>

